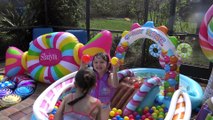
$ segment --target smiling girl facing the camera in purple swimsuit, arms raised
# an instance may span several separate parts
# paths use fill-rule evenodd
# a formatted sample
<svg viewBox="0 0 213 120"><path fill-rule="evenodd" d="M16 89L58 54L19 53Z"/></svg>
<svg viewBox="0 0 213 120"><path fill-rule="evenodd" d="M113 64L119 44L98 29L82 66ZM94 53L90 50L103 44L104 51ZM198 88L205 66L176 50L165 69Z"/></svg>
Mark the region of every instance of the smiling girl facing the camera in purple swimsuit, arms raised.
<svg viewBox="0 0 213 120"><path fill-rule="evenodd" d="M81 62L81 68L87 68L87 63ZM110 57L106 53L97 53L92 59L92 67L96 73L96 87L90 93L93 97L98 98L102 102L102 119L107 120L110 108L110 101L114 96L116 88L119 85L117 70L120 64L112 65ZM112 72L111 72L112 70Z"/></svg>

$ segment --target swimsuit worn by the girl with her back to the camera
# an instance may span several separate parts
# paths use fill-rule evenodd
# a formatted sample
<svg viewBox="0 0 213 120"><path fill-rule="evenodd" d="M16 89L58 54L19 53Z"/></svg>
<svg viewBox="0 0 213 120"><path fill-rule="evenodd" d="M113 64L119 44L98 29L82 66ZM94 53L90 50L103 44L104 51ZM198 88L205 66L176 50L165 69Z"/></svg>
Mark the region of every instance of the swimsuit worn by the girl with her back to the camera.
<svg viewBox="0 0 213 120"><path fill-rule="evenodd" d="M95 104L91 107L89 114L76 112L71 108L70 111L64 112L63 120L95 120L95 118L91 116L91 113L96 108L98 102L99 101L97 99Z"/></svg>

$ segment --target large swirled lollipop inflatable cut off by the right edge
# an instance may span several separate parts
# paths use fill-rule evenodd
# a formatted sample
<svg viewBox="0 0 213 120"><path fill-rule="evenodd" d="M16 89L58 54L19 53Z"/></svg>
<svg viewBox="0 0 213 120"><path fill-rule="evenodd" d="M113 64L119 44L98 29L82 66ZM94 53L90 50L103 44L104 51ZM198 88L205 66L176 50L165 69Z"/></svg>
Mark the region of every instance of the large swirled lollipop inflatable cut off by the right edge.
<svg viewBox="0 0 213 120"><path fill-rule="evenodd" d="M201 22L199 43L204 55L209 59L210 62L213 62L213 5L211 5L211 7L207 10ZM208 80L203 101L206 101L208 98L213 96L212 86L213 71L211 72L210 78Z"/></svg>

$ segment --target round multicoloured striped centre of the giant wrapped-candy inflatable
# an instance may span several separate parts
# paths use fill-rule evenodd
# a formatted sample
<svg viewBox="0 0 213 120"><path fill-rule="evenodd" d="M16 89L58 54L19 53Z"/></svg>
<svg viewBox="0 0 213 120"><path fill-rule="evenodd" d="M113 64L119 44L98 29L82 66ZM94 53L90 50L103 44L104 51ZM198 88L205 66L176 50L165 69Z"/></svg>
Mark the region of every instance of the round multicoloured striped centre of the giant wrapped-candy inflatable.
<svg viewBox="0 0 213 120"><path fill-rule="evenodd" d="M29 47L27 68L31 77L45 83L52 83L68 73L78 70L75 46L77 38L67 32L54 32L39 36ZM83 46L82 44L80 46ZM76 53L73 51L76 51Z"/></svg>

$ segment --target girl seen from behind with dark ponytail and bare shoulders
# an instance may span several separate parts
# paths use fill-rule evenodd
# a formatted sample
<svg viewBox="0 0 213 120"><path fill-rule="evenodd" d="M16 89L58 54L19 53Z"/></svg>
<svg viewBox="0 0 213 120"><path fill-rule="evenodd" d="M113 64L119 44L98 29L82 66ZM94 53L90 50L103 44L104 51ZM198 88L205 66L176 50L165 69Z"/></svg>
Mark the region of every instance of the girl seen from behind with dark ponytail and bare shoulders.
<svg viewBox="0 0 213 120"><path fill-rule="evenodd" d="M89 95L96 84L95 73L81 69L75 76L76 92L64 97L55 120L101 120L101 102Z"/></svg>

